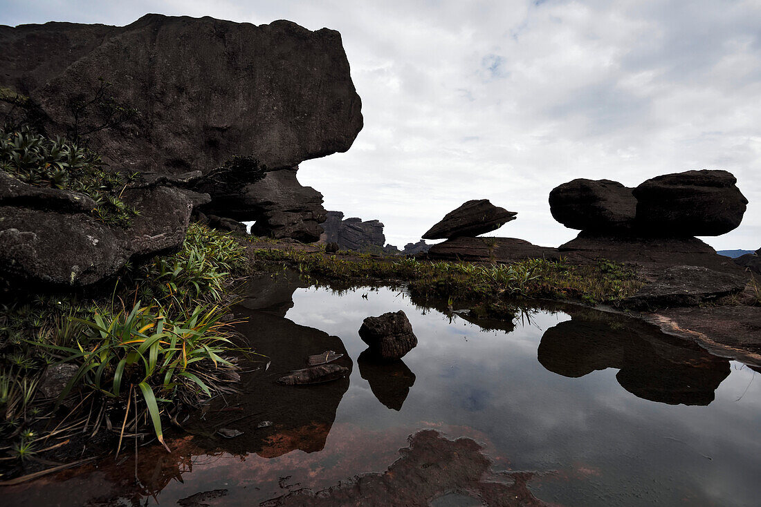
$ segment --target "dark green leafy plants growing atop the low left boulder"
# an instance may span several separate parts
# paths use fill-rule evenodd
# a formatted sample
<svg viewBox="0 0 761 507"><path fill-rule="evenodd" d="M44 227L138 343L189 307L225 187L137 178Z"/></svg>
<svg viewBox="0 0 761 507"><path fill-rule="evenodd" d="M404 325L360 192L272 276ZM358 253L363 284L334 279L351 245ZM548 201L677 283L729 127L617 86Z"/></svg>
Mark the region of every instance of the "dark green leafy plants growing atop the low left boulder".
<svg viewBox="0 0 761 507"><path fill-rule="evenodd" d="M0 170L30 185L68 189L91 197L97 220L129 226L139 213L120 198L137 173L111 173L100 157L65 138L46 138L28 126L0 129Z"/></svg>

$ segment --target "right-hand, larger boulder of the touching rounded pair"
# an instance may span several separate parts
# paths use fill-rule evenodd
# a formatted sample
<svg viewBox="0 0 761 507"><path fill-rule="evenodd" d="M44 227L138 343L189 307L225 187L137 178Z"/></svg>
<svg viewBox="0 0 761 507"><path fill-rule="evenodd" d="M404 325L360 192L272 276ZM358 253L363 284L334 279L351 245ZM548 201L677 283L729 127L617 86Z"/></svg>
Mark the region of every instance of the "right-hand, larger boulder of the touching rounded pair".
<svg viewBox="0 0 761 507"><path fill-rule="evenodd" d="M638 229L648 236L719 236L740 225L748 200L727 171L664 174L634 189Z"/></svg>

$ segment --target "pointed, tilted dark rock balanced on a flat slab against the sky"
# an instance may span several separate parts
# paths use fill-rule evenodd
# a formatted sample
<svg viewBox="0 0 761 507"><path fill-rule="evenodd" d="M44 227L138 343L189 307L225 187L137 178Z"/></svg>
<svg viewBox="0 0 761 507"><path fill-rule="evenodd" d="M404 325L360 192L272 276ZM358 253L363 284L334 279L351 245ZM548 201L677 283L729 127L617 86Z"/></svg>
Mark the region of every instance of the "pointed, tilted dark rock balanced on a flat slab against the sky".
<svg viewBox="0 0 761 507"><path fill-rule="evenodd" d="M510 220L514 211L495 206L489 199L467 201L460 208L450 211L434 227L423 234L423 239L451 239L461 236L478 236L497 230Z"/></svg>

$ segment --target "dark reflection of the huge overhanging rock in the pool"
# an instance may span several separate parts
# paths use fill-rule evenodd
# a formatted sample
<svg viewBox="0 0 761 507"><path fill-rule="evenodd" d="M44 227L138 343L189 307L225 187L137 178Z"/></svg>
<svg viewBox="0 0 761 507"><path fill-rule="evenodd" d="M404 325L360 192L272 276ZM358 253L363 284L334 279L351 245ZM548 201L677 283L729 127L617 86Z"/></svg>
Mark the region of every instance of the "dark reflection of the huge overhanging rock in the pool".
<svg viewBox="0 0 761 507"><path fill-rule="evenodd" d="M221 427L243 432L234 439L215 438L209 442L212 448L223 448L236 455L256 452L265 458L274 458L295 449L320 451L336 419L336 408L349 389L352 360L339 337L282 317L293 306L293 293L300 286L298 276L286 271L253 281L253 284L260 283L262 292L252 290L256 297L246 299L237 307L236 317L245 318L246 322L236 329L247 337L253 350L266 358L253 365L243 364L242 393L220 400L206 412L203 420L193 421L189 429L210 438ZM325 350L342 354L330 364L349 369L345 378L317 385L276 382L294 370L306 368L309 356ZM265 370L267 362L269 368ZM246 373L256 366L258 371ZM257 427L262 421L272 421L272 425Z"/></svg>

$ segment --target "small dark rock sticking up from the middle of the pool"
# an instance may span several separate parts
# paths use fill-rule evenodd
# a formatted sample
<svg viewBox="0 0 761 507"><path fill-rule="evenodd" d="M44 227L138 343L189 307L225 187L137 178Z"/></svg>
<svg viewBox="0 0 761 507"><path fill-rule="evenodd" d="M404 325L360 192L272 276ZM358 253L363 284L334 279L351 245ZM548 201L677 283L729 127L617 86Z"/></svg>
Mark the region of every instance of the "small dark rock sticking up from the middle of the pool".
<svg viewBox="0 0 761 507"><path fill-rule="evenodd" d="M402 310L365 318L359 336L384 359L400 359L418 344L412 325Z"/></svg>

